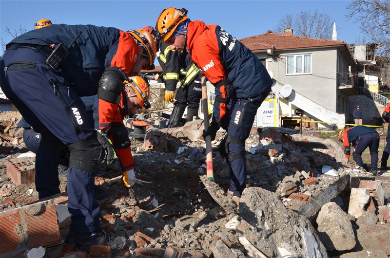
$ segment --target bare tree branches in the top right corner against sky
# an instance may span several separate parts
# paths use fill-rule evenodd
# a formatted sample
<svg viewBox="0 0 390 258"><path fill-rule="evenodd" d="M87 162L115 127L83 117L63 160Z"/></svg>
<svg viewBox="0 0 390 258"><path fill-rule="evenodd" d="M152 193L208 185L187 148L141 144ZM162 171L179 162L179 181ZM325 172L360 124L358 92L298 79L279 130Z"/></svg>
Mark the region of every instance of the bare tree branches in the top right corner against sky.
<svg viewBox="0 0 390 258"><path fill-rule="evenodd" d="M379 55L390 55L390 0L352 0L347 5L347 18L360 22L360 29L379 43Z"/></svg>

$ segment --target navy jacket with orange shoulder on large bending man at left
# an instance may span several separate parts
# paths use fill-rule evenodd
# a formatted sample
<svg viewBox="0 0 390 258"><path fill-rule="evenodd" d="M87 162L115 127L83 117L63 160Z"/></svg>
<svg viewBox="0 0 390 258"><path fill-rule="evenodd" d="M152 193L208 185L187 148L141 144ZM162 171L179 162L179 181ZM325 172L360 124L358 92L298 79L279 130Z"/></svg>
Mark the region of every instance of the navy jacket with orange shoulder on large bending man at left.
<svg viewBox="0 0 390 258"><path fill-rule="evenodd" d="M104 70L117 66L130 74L138 58L137 42L129 34L116 28L94 25L52 24L14 38L12 43L70 46L68 56L61 63L61 74L78 96L96 95Z"/></svg>

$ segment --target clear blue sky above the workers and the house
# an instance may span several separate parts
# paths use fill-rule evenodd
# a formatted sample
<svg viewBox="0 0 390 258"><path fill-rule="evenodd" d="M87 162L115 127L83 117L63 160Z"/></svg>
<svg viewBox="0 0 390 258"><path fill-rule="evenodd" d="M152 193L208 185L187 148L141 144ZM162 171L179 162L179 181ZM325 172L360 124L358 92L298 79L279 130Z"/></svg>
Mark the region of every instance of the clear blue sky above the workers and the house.
<svg viewBox="0 0 390 258"><path fill-rule="evenodd" d="M0 37L12 37L5 27L34 29L34 22L48 18L53 23L93 24L121 30L154 26L164 8L186 8L192 20L218 24L237 39L266 33L286 14L302 10L324 11L336 22L337 39L355 43L364 37L359 24L347 20L350 0L0 0ZM0 49L0 55L2 49Z"/></svg>

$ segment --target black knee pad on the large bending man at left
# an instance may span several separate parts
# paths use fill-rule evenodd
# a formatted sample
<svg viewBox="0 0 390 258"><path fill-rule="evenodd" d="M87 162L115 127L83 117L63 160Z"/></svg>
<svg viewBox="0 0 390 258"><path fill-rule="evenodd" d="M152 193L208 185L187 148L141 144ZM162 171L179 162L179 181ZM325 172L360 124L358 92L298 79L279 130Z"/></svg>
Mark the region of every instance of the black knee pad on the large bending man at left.
<svg viewBox="0 0 390 258"><path fill-rule="evenodd" d="M98 160L101 145L98 138L92 137L68 146L70 151L69 167L84 170L94 175L98 173Z"/></svg>

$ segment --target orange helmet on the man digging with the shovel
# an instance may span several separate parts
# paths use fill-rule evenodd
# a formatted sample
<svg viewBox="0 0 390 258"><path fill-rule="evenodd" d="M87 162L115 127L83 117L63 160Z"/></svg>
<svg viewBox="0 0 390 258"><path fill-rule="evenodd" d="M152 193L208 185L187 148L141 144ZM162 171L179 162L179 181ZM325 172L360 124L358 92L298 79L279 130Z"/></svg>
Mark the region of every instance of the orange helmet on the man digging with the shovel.
<svg viewBox="0 0 390 258"><path fill-rule="evenodd" d="M166 41L171 37L177 25L187 19L187 12L184 8L181 8L181 10L173 7L164 9L157 18L156 40Z"/></svg>

